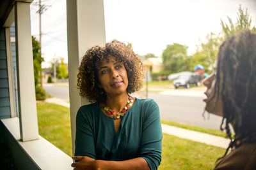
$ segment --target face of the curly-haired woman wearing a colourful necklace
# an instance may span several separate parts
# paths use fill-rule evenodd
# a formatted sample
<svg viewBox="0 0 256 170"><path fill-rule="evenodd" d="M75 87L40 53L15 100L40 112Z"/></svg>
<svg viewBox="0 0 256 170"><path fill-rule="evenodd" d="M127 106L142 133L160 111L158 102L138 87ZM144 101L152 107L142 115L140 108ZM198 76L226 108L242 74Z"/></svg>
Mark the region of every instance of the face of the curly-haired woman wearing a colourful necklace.
<svg viewBox="0 0 256 170"><path fill-rule="evenodd" d="M99 87L103 88L108 96L127 94L128 78L122 62L115 59L104 59L98 68Z"/></svg>

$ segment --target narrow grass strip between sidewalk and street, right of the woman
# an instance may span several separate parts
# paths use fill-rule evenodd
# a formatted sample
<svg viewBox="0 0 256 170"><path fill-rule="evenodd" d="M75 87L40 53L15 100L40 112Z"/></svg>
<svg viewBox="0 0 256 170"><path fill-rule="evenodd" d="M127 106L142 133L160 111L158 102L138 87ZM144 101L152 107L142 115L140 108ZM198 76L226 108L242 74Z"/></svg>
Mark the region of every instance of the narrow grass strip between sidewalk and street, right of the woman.
<svg viewBox="0 0 256 170"><path fill-rule="evenodd" d="M221 136L223 138L227 138L227 134L226 132L217 130L217 129L207 129L207 128L203 128L203 127L197 127L197 126L193 126L193 125L188 125L188 124L180 124L177 122L172 122L170 120L161 120L162 124L166 124L166 125L173 125L175 127L181 127L184 129L189 129L192 131L198 131L198 132L204 132L207 134L213 134L215 136Z"/></svg>

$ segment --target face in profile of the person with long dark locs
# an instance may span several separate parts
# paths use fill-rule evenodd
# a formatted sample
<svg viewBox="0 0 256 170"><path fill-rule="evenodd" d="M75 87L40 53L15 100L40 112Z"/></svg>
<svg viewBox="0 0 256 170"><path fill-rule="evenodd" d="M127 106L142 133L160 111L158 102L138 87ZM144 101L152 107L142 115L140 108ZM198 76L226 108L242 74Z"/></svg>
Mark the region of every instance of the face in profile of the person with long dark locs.
<svg viewBox="0 0 256 170"><path fill-rule="evenodd" d="M207 97L204 99L204 102L206 103L205 110L208 113L212 113L214 115L223 117L223 103L221 96L220 94L214 95L214 87L216 83L216 66L217 62L215 62L214 64L214 73L212 73L209 77L205 78L203 82L203 84L207 87L206 92L204 92L204 94ZM221 91L221 87L219 91Z"/></svg>

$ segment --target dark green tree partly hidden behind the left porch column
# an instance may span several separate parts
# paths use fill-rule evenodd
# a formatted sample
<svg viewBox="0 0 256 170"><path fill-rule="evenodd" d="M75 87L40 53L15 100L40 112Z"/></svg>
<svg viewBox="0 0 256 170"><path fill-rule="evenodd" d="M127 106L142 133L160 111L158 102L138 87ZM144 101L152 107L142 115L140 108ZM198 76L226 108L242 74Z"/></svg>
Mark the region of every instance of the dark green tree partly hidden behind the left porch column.
<svg viewBox="0 0 256 170"><path fill-rule="evenodd" d="M34 65L34 80L35 80L35 91L36 91L36 100L45 99L45 91L42 87L39 86L40 83L40 71L42 71L41 63L44 61L44 58L41 55L41 46L35 37L32 36L32 47L33 47L33 65Z"/></svg>

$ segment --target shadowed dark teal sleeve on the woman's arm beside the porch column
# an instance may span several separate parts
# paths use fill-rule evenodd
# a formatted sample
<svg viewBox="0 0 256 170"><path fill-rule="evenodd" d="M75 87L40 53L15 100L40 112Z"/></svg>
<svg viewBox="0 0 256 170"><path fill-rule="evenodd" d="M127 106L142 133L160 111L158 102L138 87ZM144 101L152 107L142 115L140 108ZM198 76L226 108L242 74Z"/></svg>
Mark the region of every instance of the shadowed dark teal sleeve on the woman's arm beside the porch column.
<svg viewBox="0 0 256 170"><path fill-rule="evenodd" d="M96 159L92 120L90 120L88 113L86 113L83 107L77 111L75 144L75 155Z"/></svg>

